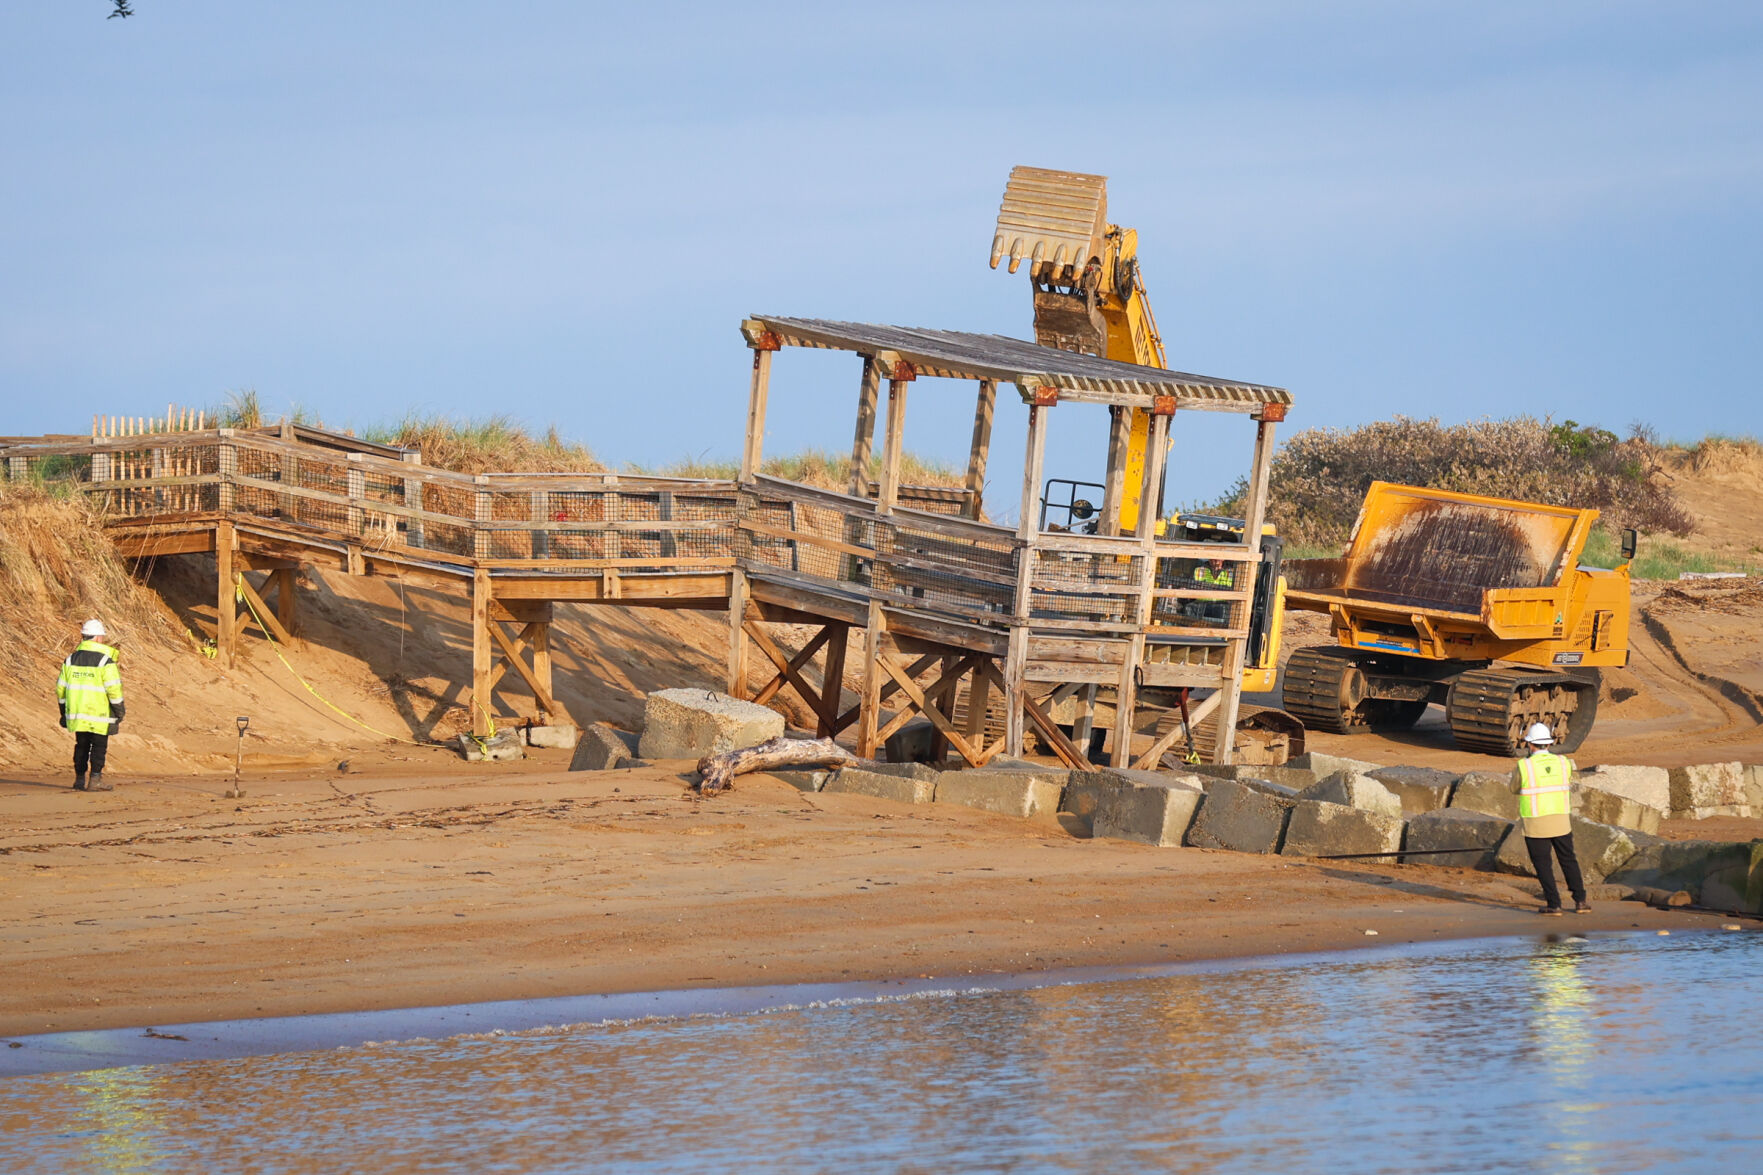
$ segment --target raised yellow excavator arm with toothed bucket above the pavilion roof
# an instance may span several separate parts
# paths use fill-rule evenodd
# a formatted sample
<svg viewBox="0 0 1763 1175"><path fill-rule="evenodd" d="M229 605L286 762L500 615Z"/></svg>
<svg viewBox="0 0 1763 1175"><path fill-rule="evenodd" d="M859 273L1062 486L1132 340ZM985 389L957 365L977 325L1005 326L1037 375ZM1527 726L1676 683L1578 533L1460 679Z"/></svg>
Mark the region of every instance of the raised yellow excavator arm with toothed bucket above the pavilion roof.
<svg viewBox="0 0 1763 1175"><path fill-rule="evenodd" d="M1028 263L1035 342L1141 367L1167 367L1139 275L1139 233L1107 222L1107 176L1014 168L998 208L991 265ZM1132 413L1121 533L1139 526L1151 415Z"/></svg>

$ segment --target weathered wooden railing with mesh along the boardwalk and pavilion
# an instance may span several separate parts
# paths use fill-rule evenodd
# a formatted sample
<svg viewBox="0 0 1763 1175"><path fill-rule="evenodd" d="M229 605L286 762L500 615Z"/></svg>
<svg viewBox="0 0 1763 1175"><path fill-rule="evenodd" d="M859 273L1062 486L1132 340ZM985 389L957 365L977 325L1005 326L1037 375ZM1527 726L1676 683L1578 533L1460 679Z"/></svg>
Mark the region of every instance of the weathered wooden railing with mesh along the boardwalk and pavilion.
<svg viewBox="0 0 1763 1175"><path fill-rule="evenodd" d="M7 476L78 483L118 519L224 515L462 570L643 575L740 565L943 619L998 630L1026 623L1074 639L1234 635L1246 614L1246 588L1220 591L1171 570L1213 554L1241 558L1213 545L1157 543L1151 554L1132 538L1063 533L1026 543L991 522L880 513L874 501L770 476L746 487L619 473L472 476L390 453L338 434L289 439L272 429L0 446ZM1239 565L1243 584L1250 566Z"/></svg>

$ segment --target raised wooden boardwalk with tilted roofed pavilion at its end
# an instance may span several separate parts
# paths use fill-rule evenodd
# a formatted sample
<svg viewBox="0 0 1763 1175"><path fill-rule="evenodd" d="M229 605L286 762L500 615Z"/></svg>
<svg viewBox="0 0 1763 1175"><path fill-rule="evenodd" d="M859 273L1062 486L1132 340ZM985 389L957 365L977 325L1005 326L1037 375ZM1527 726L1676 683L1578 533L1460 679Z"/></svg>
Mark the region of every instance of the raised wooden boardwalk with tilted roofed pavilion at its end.
<svg viewBox="0 0 1763 1175"><path fill-rule="evenodd" d="M922 715L973 764L1019 755L1033 729L1065 762L1082 766L1088 755L1077 743L1088 741L1086 707L1098 690L1112 695L1123 715L1116 725L1127 730L1142 688L1209 692L1201 706L1218 711L1220 730L1234 729L1259 550L1160 542L1149 510L1132 535L1044 529L1045 432L1061 402L1111 408L1098 506L1105 522L1127 475L1121 438L1130 411L1151 413L1146 501L1162 485L1178 409L1250 415L1245 533L1259 536L1273 423L1289 393L993 335L809 319L749 319L742 332L753 378L733 482L471 476L425 466L416 452L321 429L213 429L171 418L162 430L132 436L99 436L109 430L95 427L92 438L9 438L0 459L16 480L78 482L129 558L212 554L227 660L247 626L293 637L301 566L469 591L480 732L492 718L518 716L510 699L517 685L531 695L532 716L569 720L552 692L550 623L559 602L726 610L728 692L765 702L795 690L818 716L820 734L855 725L862 755ZM770 363L785 346L860 358L857 473L846 492L758 473ZM975 385L961 490L899 483L906 393L929 378ZM980 498L1001 385L1014 386L1030 413L1017 526L986 522ZM873 468L878 422L880 480L871 483L864 471ZM1239 588L1199 584L1181 572L1220 556L1236 568ZM1213 610L1195 619L1190 603ZM790 655L769 628L783 623L816 632ZM816 688L815 677L846 679L853 630L866 637L857 649L862 686L859 702L844 707L839 690ZM756 693L748 688L755 653L772 669ZM818 672L807 672L811 665ZM1054 722L1049 700L1075 702L1077 720ZM1132 739L1116 730L1111 760L1151 766L1172 743L1165 736L1134 757ZM1218 739L1218 760L1229 762L1231 750L1231 739Z"/></svg>

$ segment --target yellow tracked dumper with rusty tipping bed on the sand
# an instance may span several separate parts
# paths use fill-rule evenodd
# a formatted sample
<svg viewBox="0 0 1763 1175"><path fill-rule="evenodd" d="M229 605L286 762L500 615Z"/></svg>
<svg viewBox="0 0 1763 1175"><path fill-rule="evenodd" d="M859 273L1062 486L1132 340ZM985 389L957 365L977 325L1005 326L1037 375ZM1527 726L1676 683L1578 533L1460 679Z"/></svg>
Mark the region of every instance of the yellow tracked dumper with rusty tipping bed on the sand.
<svg viewBox="0 0 1763 1175"><path fill-rule="evenodd" d="M1432 704L1463 750L1511 755L1530 723L1560 750L1597 716L1599 667L1629 660L1629 559L1580 566L1597 510L1373 482L1340 559L1289 559L1285 603L1333 647L1292 653L1283 704L1312 730L1405 730Z"/></svg>

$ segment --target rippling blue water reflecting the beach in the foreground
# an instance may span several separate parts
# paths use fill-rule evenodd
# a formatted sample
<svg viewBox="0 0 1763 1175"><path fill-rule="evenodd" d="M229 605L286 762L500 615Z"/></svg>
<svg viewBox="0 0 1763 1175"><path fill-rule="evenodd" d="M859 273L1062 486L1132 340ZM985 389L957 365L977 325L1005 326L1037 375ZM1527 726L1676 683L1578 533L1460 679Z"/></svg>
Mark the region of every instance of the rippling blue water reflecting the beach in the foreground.
<svg viewBox="0 0 1763 1175"><path fill-rule="evenodd" d="M1490 940L0 1083L7 1171L1763 1171L1763 935Z"/></svg>

